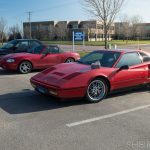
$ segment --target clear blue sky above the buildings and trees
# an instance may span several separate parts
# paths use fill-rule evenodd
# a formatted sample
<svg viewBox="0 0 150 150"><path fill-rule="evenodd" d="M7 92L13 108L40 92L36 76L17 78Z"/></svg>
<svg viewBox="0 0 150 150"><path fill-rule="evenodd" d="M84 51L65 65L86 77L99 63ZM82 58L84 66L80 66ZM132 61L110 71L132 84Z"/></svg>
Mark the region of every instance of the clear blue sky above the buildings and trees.
<svg viewBox="0 0 150 150"><path fill-rule="evenodd" d="M92 18L82 7L81 0L0 0L0 17L5 18L7 26L28 21L31 11L32 21L49 20L89 20ZM126 0L116 21L122 15L140 15L144 22L150 22L150 0Z"/></svg>

